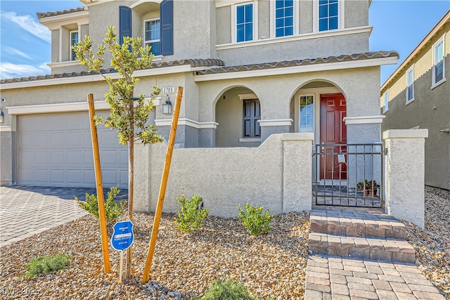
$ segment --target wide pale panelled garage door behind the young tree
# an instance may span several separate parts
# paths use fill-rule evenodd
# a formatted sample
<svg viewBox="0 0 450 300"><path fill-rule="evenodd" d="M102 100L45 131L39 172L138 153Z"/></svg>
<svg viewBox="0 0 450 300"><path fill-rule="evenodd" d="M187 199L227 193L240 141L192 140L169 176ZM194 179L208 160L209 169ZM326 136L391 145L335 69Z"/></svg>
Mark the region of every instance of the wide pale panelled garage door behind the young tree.
<svg viewBox="0 0 450 300"><path fill-rule="evenodd" d="M96 186L88 112L21 115L17 126L20 185ZM97 131L103 185L127 188L127 146L116 131L101 125Z"/></svg>

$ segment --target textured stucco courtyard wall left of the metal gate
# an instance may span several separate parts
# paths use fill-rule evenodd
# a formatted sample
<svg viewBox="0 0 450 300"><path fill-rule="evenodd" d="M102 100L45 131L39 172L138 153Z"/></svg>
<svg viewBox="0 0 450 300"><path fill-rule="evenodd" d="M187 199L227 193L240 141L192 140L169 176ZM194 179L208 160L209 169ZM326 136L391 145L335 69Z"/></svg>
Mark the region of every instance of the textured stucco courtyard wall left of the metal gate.
<svg viewBox="0 0 450 300"><path fill-rule="evenodd" d="M214 216L236 216L236 205L262 205L272 214L311 209L312 133L270 136L258 148L175 149L164 211L179 209L176 197L203 196ZM136 211L155 211L167 145L136 145ZM205 169L204 166L209 166Z"/></svg>

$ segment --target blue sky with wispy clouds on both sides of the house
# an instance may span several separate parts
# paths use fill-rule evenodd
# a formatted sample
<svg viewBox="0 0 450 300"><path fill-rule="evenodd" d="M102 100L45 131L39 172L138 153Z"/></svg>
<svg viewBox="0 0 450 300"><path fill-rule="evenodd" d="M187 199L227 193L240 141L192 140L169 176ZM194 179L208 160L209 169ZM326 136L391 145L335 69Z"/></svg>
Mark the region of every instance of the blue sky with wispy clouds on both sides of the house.
<svg viewBox="0 0 450 300"><path fill-rule="evenodd" d="M82 6L82 2L71 0L0 0L1 79L49 74L50 32L39 24L36 13ZM450 0L373 0L370 50L395 50L401 63L449 8ZM396 67L382 67L381 84Z"/></svg>

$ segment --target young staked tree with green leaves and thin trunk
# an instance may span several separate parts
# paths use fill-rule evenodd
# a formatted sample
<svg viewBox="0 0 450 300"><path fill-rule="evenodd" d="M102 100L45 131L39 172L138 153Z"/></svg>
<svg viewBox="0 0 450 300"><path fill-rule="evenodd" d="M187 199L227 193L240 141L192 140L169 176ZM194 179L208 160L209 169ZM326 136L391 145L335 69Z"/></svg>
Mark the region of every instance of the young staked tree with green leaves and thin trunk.
<svg viewBox="0 0 450 300"><path fill-rule="evenodd" d="M110 115L104 120L102 117L94 117L96 124L103 124L107 127L117 129L119 142L128 145L129 154L129 181L128 181L128 213L130 221L133 220L133 195L134 195L134 141L141 140L142 143L158 143L162 141L162 136L156 132L156 126L148 125L148 115L153 110L153 100L160 93L158 87L153 87L150 101L145 101L143 94L134 98L134 86L139 79L134 78L133 72L152 66L153 53L150 53L150 46L142 47L141 38L124 37L123 43L117 42L114 27L108 26L105 45L98 45L96 54L92 50L92 38L84 37L74 46L77 53L77 60L87 69L101 74L109 85L110 91L105 94L105 100L110 105ZM105 76L103 65L105 65L105 51L112 58L111 67L120 75L118 79ZM131 247L127 250L127 272L126 277L131 273Z"/></svg>

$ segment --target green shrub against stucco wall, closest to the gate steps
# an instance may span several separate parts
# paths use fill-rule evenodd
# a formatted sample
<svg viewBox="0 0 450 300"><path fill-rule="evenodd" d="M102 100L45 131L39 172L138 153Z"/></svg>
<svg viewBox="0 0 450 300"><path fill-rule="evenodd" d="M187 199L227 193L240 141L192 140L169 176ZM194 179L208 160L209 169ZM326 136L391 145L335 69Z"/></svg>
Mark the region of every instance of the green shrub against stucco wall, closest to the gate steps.
<svg viewBox="0 0 450 300"><path fill-rule="evenodd" d="M238 219L242 221L242 225L247 228L252 235L266 235L270 231L270 221L274 216L269 214L269 209L262 212L262 207L252 207L245 204L245 211L236 207L239 211Z"/></svg>

